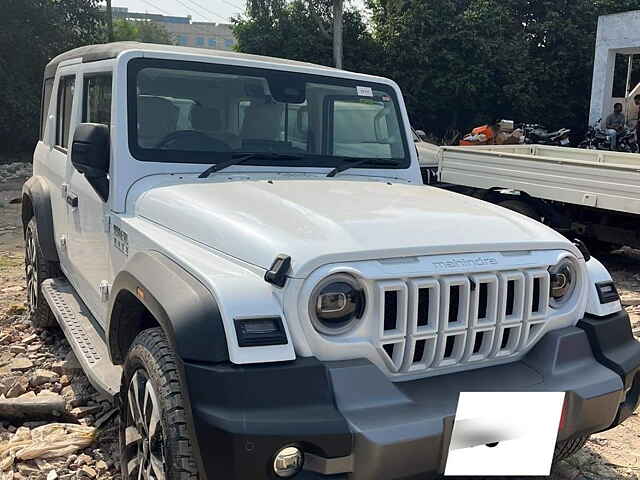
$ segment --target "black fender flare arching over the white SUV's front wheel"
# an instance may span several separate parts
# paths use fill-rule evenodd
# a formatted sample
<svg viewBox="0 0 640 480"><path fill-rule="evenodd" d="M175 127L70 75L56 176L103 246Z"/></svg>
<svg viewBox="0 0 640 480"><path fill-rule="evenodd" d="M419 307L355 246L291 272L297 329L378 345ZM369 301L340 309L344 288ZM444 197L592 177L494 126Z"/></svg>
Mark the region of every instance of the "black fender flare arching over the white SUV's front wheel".
<svg viewBox="0 0 640 480"><path fill-rule="evenodd" d="M121 295L133 295L142 303L182 361L229 360L222 315L213 294L166 255L148 251L136 253L111 287L107 345L114 363L124 361L128 345L121 340L128 338L126 329L133 327L119 321L126 309L126 302L119 301Z"/></svg>

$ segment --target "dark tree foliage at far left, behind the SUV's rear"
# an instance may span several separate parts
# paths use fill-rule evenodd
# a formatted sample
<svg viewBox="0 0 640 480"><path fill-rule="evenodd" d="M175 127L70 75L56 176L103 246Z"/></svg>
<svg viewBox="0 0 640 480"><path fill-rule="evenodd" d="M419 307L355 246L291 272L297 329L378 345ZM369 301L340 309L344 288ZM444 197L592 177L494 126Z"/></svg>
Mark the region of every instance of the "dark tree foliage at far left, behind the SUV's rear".
<svg viewBox="0 0 640 480"><path fill-rule="evenodd" d="M0 29L0 152L31 150L38 137L42 73L55 55L95 43L95 0L4 0Z"/></svg>

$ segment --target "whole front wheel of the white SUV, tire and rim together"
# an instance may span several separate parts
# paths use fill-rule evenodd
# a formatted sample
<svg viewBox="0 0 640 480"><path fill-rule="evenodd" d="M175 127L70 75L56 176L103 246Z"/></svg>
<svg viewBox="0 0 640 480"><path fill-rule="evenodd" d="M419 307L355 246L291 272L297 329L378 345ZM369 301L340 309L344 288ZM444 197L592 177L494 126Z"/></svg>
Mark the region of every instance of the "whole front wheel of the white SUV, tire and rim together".
<svg viewBox="0 0 640 480"><path fill-rule="evenodd" d="M197 480L176 357L160 328L133 341L120 398L123 480Z"/></svg>

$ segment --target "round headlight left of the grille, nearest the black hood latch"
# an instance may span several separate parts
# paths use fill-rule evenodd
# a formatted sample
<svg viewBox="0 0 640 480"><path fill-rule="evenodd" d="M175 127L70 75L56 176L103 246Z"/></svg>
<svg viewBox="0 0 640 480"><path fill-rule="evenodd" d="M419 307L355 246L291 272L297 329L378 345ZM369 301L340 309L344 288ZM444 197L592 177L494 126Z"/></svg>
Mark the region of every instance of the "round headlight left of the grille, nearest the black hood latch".
<svg viewBox="0 0 640 480"><path fill-rule="evenodd" d="M325 278L313 289L309 315L316 330L338 335L362 317L364 307L364 292L358 281L341 273Z"/></svg>

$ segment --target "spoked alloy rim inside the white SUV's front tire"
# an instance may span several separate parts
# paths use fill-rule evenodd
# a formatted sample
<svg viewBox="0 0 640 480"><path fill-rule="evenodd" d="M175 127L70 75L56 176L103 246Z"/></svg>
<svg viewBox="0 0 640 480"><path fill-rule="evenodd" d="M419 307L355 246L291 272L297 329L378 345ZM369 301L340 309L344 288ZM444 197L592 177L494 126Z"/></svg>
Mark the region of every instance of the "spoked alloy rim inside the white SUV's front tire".
<svg viewBox="0 0 640 480"><path fill-rule="evenodd" d="M144 370L127 389L124 454L131 480L165 480L165 445L158 396Z"/></svg>

